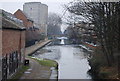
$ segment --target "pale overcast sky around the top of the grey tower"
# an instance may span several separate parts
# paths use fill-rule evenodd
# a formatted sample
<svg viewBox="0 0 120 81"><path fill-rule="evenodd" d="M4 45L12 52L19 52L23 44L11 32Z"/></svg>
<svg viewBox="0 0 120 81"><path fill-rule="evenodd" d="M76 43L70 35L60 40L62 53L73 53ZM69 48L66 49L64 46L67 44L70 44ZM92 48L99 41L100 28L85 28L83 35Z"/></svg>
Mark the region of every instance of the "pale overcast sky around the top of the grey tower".
<svg viewBox="0 0 120 81"><path fill-rule="evenodd" d="M41 2L48 5L49 12L55 12L62 14L64 9L63 5L69 3L72 0L0 0L2 9L14 13L17 9L23 10L23 4L25 2Z"/></svg>

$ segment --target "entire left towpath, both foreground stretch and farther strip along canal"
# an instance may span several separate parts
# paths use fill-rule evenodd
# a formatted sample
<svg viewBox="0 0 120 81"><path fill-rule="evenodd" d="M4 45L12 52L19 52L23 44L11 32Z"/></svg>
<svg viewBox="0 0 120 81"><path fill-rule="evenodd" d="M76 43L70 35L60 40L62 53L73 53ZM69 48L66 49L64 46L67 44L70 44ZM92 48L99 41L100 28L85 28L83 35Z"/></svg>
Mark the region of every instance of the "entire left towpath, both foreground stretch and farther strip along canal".
<svg viewBox="0 0 120 81"><path fill-rule="evenodd" d="M26 56L35 52L37 49L49 43L50 40L39 42L31 47L26 48ZM49 79L51 70L50 67L42 66L33 59L27 58L30 61L30 68L23 74L20 79Z"/></svg>

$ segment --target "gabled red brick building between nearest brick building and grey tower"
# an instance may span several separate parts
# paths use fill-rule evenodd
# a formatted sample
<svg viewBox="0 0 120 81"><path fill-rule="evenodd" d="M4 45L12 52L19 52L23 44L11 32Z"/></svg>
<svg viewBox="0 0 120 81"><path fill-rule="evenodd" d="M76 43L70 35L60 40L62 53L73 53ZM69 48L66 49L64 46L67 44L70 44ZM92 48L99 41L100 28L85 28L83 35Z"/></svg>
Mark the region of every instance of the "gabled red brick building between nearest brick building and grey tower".
<svg viewBox="0 0 120 81"><path fill-rule="evenodd" d="M39 29L35 28L34 22L30 19L22 10L18 9L14 13L15 17L23 21L23 25L26 27L26 46L34 44L39 40Z"/></svg>

